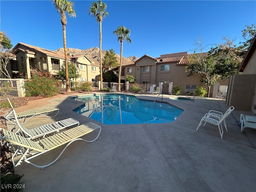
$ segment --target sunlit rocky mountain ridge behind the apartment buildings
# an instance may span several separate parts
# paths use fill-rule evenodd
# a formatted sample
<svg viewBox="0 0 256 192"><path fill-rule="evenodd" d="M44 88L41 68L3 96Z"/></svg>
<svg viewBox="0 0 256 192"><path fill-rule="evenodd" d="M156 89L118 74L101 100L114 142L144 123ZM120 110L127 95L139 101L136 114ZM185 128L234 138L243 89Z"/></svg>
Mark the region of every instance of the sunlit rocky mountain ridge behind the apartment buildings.
<svg viewBox="0 0 256 192"><path fill-rule="evenodd" d="M59 48L58 50L55 50L55 52L64 54L64 48ZM92 59L96 60L98 63L100 63L100 48L98 48L98 47L92 47L92 48L85 49L85 50L76 49L76 48L67 48L67 52L74 54L74 55L85 54L86 56L88 56L88 58L92 58ZM102 58L104 58L105 54L106 54L106 50L102 50ZM118 61L120 61L120 55L116 54L116 58ZM136 56L130 56L127 58L123 57L122 63L126 64L128 62L135 61L137 59L138 59L138 57L136 57Z"/></svg>

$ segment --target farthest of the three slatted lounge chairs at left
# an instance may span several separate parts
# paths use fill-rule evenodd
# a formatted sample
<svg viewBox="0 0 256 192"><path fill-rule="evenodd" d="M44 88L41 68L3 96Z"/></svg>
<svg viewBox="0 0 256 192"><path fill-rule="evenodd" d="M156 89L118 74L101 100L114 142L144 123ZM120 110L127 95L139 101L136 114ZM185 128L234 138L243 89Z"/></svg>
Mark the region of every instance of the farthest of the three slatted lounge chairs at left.
<svg viewBox="0 0 256 192"><path fill-rule="evenodd" d="M4 115L4 118L8 121L10 121L12 124L15 124L14 121L15 120L15 117L13 115L13 113L15 112L14 110L14 107L12 106L12 103L10 102L9 98L7 98L10 106L11 106L11 109L9 112L7 112L5 115ZM53 112L56 112L56 114L54 116L50 116L50 114L52 114ZM28 120L30 120L30 118L36 116L36 115L43 115L43 116L46 116L46 117L55 117L59 112L59 108L57 107L50 107L50 108L42 108L42 109L38 109L38 110L27 110L27 111L24 111L24 112L19 112L19 113L16 113L17 115L17 118L19 120L22 120L24 119L24 122L27 122ZM26 118L28 118L26 120ZM26 120L26 121L25 121Z"/></svg>

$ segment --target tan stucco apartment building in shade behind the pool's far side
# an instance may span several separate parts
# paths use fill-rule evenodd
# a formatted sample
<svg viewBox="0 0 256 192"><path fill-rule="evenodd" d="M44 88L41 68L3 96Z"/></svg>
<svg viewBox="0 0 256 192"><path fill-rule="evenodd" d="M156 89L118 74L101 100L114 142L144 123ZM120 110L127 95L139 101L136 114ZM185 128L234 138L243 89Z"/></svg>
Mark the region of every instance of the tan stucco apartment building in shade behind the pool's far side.
<svg viewBox="0 0 256 192"><path fill-rule="evenodd" d="M130 62L122 65L121 81L125 81L126 75L132 75L138 84L156 84L163 82L163 93L171 94L170 83L172 86L181 86L181 94L186 94L195 91L197 86L203 85L200 76L189 76L186 73L186 65L188 52L180 52L173 54L160 55L158 58L153 58L144 55L135 62ZM220 85L227 85L228 80L218 80ZM213 86L212 86L213 87ZM212 94L212 88L211 92Z"/></svg>

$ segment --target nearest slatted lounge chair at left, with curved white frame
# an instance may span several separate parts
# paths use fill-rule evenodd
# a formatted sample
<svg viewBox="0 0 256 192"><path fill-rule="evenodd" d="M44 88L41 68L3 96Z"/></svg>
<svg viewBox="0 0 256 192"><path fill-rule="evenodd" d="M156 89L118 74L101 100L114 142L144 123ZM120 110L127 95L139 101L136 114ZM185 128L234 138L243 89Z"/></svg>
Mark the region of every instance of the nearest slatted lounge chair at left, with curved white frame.
<svg viewBox="0 0 256 192"><path fill-rule="evenodd" d="M84 136L96 129L100 128L100 131L96 138L94 140L88 141L80 138L81 136ZM45 168L47 166L52 165L54 162L60 158L62 153L66 150L66 148L74 141L76 140L84 140L86 142L94 142L101 132L101 127L89 122L86 124L82 124L80 126L65 130L63 132L54 134L52 136L42 138L40 140L29 140L27 138L24 138L22 136L18 136L12 132L9 132L7 130L1 129L4 136L0 136L2 140L5 140L8 142L12 149L16 148L15 146L18 146L17 150L15 150L14 155L12 156L12 163L14 167L20 165L22 163L22 160L24 162L31 164L33 166L36 166L38 168ZM30 159L40 156L52 149L58 148L59 146L62 146L64 144L67 144L66 147L60 152L59 156L52 162L46 165L36 165L32 162L30 162ZM32 153L32 150L36 151ZM30 155L30 157L27 157L27 155ZM15 162L14 158L18 158L18 161Z"/></svg>

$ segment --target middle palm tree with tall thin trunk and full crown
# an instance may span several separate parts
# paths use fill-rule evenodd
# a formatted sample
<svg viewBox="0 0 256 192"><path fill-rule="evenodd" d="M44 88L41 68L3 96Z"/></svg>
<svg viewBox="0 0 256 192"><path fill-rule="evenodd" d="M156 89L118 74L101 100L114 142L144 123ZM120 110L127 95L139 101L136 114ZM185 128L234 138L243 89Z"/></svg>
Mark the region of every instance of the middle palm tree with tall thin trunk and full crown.
<svg viewBox="0 0 256 192"><path fill-rule="evenodd" d="M102 55L101 55L101 42L102 42L102 32L101 32L101 23L104 17L108 16L106 12L107 5L102 3L99 0L97 3L92 2L92 5L89 10L89 14L93 17L96 17L96 21L100 23L100 88L103 88L103 78L102 78Z"/></svg>

